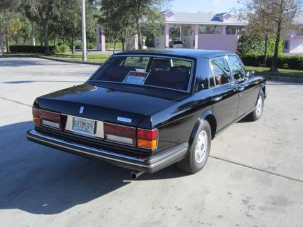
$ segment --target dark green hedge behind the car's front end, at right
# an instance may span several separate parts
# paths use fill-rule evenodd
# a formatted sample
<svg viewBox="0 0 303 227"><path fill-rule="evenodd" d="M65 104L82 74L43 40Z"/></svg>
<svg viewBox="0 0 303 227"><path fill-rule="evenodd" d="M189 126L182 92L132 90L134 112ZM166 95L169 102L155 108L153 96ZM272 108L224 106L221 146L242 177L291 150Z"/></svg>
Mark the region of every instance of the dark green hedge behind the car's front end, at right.
<svg viewBox="0 0 303 227"><path fill-rule="evenodd" d="M245 54L241 59L245 65L261 66L263 64L264 56L257 53L250 53ZM271 64L272 56L268 56L266 66L270 67ZM278 68L303 70L303 56L280 56L277 64Z"/></svg>

